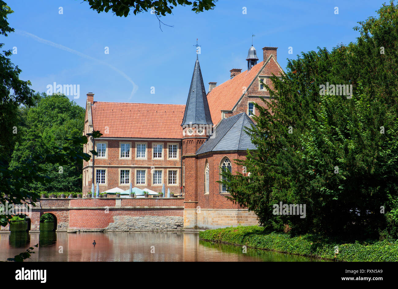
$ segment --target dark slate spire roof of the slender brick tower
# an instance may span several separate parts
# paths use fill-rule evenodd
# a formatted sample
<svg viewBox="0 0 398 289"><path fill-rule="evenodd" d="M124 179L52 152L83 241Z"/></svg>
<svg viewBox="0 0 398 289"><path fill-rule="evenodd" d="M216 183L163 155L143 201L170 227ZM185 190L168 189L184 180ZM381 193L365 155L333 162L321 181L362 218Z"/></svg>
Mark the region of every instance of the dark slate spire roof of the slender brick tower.
<svg viewBox="0 0 398 289"><path fill-rule="evenodd" d="M189 123L213 125L197 55L181 126Z"/></svg>

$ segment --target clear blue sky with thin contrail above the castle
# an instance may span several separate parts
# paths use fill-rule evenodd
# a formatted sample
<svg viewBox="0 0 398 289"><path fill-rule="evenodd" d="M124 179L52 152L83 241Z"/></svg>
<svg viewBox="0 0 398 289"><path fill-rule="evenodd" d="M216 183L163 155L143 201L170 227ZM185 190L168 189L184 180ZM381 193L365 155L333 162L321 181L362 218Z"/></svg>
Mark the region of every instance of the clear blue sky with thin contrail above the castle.
<svg viewBox="0 0 398 289"><path fill-rule="evenodd" d="M97 101L185 104L196 38L207 91L210 81L228 80L230 69L246 69L252 33L260 61L262 47L279 47L278 62L285 69L286 59L301 51L355 41L359 33L352 28L375 16L383 2L219 0L214 10L200 14L175 8L161 18L174 27L162 26L162 32L150 12L120 18L98 14L81 0L8 0L14 10L8 22L16 32L1 36L1 42L3 49L17 47L12 62L37 92L56 82L80 85L80 98L74 100L83 107L87 92L94 92ZM336 6L339 14L334 14ZM137 89L131 95L133 83Z"/></svg>

